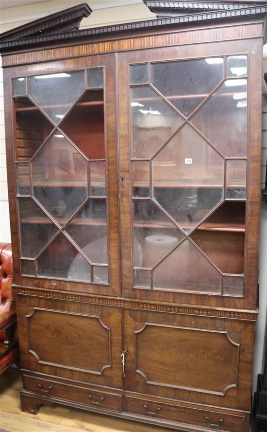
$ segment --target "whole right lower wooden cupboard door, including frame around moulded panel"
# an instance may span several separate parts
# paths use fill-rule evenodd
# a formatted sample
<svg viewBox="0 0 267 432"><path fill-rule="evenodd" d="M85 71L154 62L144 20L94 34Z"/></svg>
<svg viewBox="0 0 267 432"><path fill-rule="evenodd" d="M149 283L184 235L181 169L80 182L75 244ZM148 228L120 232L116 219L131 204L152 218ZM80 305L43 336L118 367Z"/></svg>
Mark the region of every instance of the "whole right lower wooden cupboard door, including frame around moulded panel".
<svg viewBox="0 0 267 432"><path fill-rule="evenodd" d="M124 311L125 388L250 410L254 323Z"/></svg>

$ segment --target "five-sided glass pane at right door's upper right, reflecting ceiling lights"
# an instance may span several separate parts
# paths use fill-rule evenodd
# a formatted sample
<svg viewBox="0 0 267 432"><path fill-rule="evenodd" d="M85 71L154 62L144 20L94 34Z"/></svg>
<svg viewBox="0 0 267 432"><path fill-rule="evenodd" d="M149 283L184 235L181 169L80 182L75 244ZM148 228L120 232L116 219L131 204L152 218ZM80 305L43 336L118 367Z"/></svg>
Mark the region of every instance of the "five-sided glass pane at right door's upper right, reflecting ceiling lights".
<svg viewBox="0 0 267 432"><path fill-rule="evenodd" d="M192 122L226 157L246 157L247 80L226 80Z"/></svg>

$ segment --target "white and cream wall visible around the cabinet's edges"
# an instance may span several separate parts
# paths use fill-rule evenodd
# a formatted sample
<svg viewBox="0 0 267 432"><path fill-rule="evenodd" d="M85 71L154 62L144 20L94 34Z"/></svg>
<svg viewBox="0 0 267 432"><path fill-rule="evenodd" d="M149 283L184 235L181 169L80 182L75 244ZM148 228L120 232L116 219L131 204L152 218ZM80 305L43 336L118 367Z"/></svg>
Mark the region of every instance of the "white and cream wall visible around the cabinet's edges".
<svg viewBox="0 0 267 432"><path fill-rule="evenodd" d="M64 0L64 7L79 4L81 0ZM143 4L142 0L88 0L93 13L84 18L82 28L106 25L117 22L138 21L154 18L154 14ZM61 10L62 0L42 1L28 5L16 6L1 10L1 32L22 25L33 19ZM267 45L264 49L264 71L267 72ZM267 157L267 86L264 83L263 104L263 158L262 158L262 188L264 187ZM256 340L253 364L253 391L256 377L262 372L264 334L267 312L267 202L262 201L260 228L260 260L259 260L259 303L260 314L256 326ZM10 226L7 200L6 161L4 144L3 118L3 85L0 74L0 241L10 241Z"/></svg>

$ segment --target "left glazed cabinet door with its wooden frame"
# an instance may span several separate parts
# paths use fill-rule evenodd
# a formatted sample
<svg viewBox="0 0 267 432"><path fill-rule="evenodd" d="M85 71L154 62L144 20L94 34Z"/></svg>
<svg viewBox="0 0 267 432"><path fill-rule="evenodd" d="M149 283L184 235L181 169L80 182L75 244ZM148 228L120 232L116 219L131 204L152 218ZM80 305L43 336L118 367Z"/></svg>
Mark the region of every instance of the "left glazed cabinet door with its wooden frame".
<svg viewBox="0 0 267 432"><path fill-rule="evenodd" d="M12 79L16 282L118 295L114 56L33 69Z"/></svg>

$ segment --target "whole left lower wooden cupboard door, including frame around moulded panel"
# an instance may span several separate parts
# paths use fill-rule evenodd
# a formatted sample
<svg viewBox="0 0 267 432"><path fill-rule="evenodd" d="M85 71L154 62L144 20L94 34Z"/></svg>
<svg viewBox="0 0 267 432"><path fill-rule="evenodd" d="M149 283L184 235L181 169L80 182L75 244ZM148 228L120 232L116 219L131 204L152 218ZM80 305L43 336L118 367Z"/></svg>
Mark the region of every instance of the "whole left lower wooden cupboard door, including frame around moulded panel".
<svg viewBox="0 0 267 432"><path fill-rule="evenodd" d="M22 369L122 387L121 311L16 295Z"/></svg>

